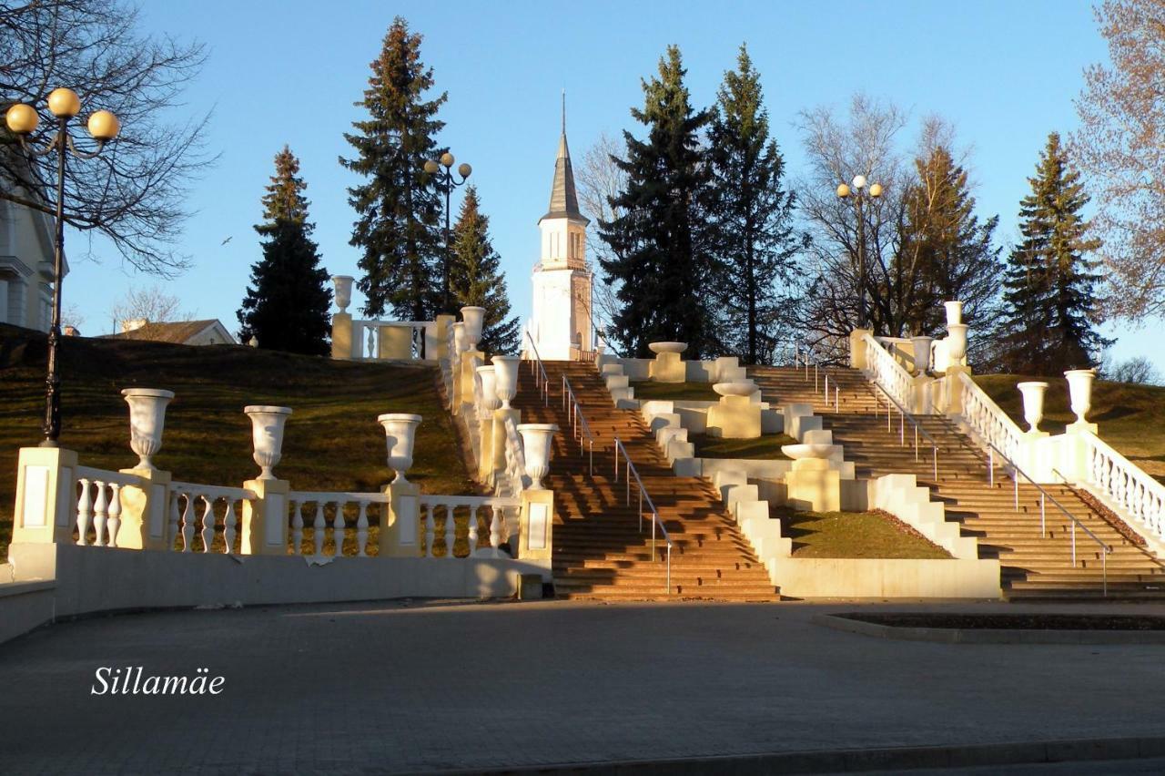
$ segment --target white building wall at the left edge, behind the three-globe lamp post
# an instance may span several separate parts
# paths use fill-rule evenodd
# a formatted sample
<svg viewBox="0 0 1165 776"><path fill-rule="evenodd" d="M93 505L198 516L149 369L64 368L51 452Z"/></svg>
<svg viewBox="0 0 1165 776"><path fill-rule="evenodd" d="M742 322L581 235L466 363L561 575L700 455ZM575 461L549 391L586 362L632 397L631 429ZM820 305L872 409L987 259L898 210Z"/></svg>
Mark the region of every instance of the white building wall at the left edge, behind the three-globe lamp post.
<svg viewBox="0 0 1165 776"><path fill-rule="evenodd" d="M51 216L0 199L0 323L49 330L52 235Z"/></svg>

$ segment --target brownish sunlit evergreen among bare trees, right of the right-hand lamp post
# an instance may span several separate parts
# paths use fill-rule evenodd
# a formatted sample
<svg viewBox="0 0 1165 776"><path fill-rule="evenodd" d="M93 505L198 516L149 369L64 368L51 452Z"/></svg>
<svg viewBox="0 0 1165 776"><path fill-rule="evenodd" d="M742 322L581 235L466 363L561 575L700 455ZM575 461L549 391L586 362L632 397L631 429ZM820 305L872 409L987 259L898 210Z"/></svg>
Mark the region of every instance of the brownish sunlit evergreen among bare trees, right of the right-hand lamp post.
<svg viewBox="0 0 1165 776"><path fill-rule="evenodd" d="M903 333L934 334L946 320L941 303L959 299L963 318L976 324L995 312L1000 253L993 245L998 217L975 214L967 171L938 143L915 160L917 178L903 196L901 239L890 274L897 283Z"/></svg>

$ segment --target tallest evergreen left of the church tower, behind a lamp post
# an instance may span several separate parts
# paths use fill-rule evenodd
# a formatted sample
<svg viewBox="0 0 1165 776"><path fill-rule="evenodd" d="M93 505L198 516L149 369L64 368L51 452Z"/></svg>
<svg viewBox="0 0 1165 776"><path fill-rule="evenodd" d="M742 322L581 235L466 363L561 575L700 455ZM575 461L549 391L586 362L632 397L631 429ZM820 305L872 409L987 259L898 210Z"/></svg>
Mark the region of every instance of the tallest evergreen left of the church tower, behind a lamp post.
<svg viewBox="0 0 1165 776"><path fill-rule="evenodd" d="M367 297L365 313L390 309L400 318L430 320L442 312L443 203L424 163L443 150L433 136L445 126L436 115L446 94L425 99L433 75L421 61L421 41L404 19L393 21L356 103L368 119L344 135L356 156L340 164L368 178L348 189L360 216L351 244L363 249L358 287Z"/></svg>

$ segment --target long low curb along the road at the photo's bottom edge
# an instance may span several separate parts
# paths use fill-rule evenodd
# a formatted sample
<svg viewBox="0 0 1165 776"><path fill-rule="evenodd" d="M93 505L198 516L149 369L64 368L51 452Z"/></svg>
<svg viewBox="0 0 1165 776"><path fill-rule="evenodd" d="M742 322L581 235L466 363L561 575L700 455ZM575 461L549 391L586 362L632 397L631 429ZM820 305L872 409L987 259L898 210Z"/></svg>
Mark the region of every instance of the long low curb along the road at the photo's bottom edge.
<svg viewBox="0 0 1165 776"><path fill-rule="evenodd" d="M559 763L513 768L425 771L439 774L579 774L586 776L763 776L765 774L838 774L913 768L974 768L1057 762L1137 760L1165 756L1165 736L1135 739L1072 739L972 746L888 747L818 752L774 752L634 760L624 762Z"/></svg>

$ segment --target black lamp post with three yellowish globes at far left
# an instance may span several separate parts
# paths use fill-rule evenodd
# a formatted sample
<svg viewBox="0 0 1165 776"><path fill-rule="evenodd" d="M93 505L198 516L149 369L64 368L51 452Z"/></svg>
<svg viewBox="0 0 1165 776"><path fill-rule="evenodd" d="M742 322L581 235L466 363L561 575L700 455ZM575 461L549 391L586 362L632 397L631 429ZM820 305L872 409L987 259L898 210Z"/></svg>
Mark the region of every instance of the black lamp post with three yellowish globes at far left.
<svg viewBox="0 0 1165 776"><path fill-rule="evenodd" d="M84 153L73 144L69 134L69 120L80 113L80 98L71 89L55 89L49 94L49 111L56 117L57 134L43 148L34 147L28 136L36 129L41 117L30 105L17 103L8 108L5 120L8 128L20 139L20 147L34 156L47 156L57 151L57 232L52 258L52 323L49 326L49 371L45 378L44 440L42 447L56 447L61 436L61 375L57 373L57 347L61 343L61 283L64 275L65 255L65 160L71 153L78 158L93 158L101 153L105 143L118 136L121 128L118 117L108 111L96 111L89 117L89 134L97 141L97 150Z"/></svg>

